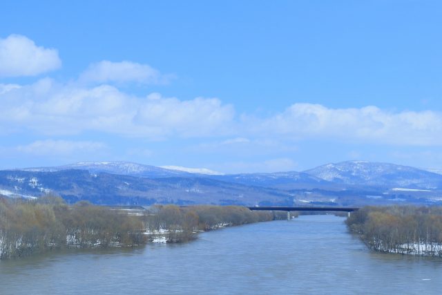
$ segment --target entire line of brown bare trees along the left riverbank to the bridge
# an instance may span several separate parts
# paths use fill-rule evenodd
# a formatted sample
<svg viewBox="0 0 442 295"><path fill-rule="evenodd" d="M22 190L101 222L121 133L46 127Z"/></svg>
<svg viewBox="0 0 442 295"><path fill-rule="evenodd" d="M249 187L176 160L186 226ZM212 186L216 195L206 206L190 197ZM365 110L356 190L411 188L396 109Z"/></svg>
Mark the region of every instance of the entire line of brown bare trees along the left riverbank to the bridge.
<svg viewBox="0 0 442 295"><path fill-rule="evenodd" d="M57 196L0 198L0 258L61 247L133 247L152 240L152 233L162 234L166 242L184 242L198 231L285 216L236 206L174 205L153 206L137 216L85 201L68 205Z"/></svg>

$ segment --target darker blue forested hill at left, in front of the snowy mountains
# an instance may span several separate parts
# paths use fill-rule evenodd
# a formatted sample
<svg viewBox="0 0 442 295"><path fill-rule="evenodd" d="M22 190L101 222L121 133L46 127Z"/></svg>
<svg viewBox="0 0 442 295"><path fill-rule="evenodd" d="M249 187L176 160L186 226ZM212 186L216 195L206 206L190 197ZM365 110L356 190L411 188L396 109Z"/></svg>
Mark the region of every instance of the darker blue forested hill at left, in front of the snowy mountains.
<svg viewBox="0 0 442 295"><path fill-rule="evenodd" d="M3 191L3 193L1 193ZM85 170L0 171L3 196L57 193L68 202L95 204L291 204L287 191L198 177L140 178Z"/></svg>

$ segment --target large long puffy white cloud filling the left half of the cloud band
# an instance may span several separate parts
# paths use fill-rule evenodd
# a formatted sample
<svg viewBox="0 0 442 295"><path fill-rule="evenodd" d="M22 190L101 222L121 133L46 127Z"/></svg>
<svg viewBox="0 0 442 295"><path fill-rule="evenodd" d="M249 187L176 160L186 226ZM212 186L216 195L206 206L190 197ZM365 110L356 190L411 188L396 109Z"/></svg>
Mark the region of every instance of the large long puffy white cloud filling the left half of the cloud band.
<svg viewBox="0 0 442 295"><path fill-rule="evenodd" d="M0 95L0 133L68 135L102 131L163 139L231 133L233 106L216 98L134 97L114 86L59 85L50 79Z"/></svg>

